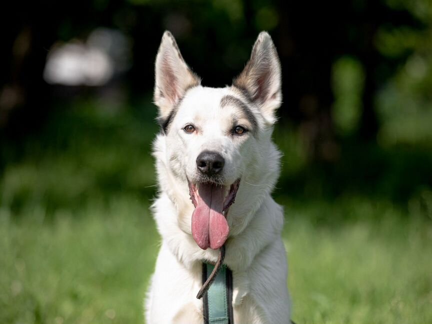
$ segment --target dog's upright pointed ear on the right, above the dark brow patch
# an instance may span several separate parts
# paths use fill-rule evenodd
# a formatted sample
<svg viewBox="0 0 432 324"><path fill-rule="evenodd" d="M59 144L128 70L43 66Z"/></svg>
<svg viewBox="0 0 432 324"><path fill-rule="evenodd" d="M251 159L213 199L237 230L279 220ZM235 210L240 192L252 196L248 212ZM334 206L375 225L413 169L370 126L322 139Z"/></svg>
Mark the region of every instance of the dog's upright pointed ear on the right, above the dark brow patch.
<svg viewBox="0 0 432 324"><path fill-rule="evenodd" d="M246 90L261 109L264 118L273 123L275 110L282 100L280 62L270 35L261 31L250 59L232 85Z"/></svg>

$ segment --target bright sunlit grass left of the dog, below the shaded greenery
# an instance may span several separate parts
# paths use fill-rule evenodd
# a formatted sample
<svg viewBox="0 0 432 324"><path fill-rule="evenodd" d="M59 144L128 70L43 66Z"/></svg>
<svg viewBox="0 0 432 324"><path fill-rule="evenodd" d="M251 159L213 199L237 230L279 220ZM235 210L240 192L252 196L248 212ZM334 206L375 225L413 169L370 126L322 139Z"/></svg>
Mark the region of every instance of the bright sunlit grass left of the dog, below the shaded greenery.
<svg viewBox="0 0 432 324"><path fill-rule="evenodd" d="M147 203L113 198L74 214L1 211L1 323L138 323L158 237Z"/></svg>

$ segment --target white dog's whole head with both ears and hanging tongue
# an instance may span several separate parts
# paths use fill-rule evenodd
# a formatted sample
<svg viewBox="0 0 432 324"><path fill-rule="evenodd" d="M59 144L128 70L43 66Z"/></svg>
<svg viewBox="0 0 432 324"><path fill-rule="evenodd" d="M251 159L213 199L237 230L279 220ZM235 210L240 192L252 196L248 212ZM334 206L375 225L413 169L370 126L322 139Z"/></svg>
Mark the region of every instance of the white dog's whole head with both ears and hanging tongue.
<svg viewBox="0 0 432 324"><path fill-rule="evenodd" d="M274 112L281 102L280 86L279 59L266 32L259 34L243 71L224 88L201 86L171 33L162 36L155 62L154 102L165 136L167 168L188 184L195 206L191 232L203 249L217 249L225 242L227 209L240 183L254 185L267 174L263 168L278 165L267 159L278 159L278 154L268 156L268 146Z"/></svg>

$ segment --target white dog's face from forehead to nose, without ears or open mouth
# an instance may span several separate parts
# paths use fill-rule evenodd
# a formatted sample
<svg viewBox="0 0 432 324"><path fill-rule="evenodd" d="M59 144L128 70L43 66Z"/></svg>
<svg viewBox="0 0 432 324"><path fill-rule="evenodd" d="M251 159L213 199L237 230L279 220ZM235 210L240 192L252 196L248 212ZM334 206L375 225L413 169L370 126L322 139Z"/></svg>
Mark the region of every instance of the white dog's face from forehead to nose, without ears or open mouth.
<svg viewBox="0 0 432 324"><path fill-rule="evenodd" d="M172 170L191 183L230 186L241 177L263 123L252 104L230 88L187 91L165 127Z"/></svg>

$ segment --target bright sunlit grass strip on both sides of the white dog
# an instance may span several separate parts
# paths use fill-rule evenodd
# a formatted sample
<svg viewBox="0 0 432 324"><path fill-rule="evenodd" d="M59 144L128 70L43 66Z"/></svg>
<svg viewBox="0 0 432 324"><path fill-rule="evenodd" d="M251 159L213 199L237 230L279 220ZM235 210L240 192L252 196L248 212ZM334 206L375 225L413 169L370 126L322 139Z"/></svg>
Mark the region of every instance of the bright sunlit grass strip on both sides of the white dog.
<svg viewBox="0 0 432 324"><path fill-rule="evenodd" d="M159 242L147 206L120 196L53 219L39 209L18 220L2 209L0 322L143 322ZM376 210L387 214L380 221L318 224L311 210L322 207L287 208L293 319L431 322L431 222L390 208Z"/></svg>

